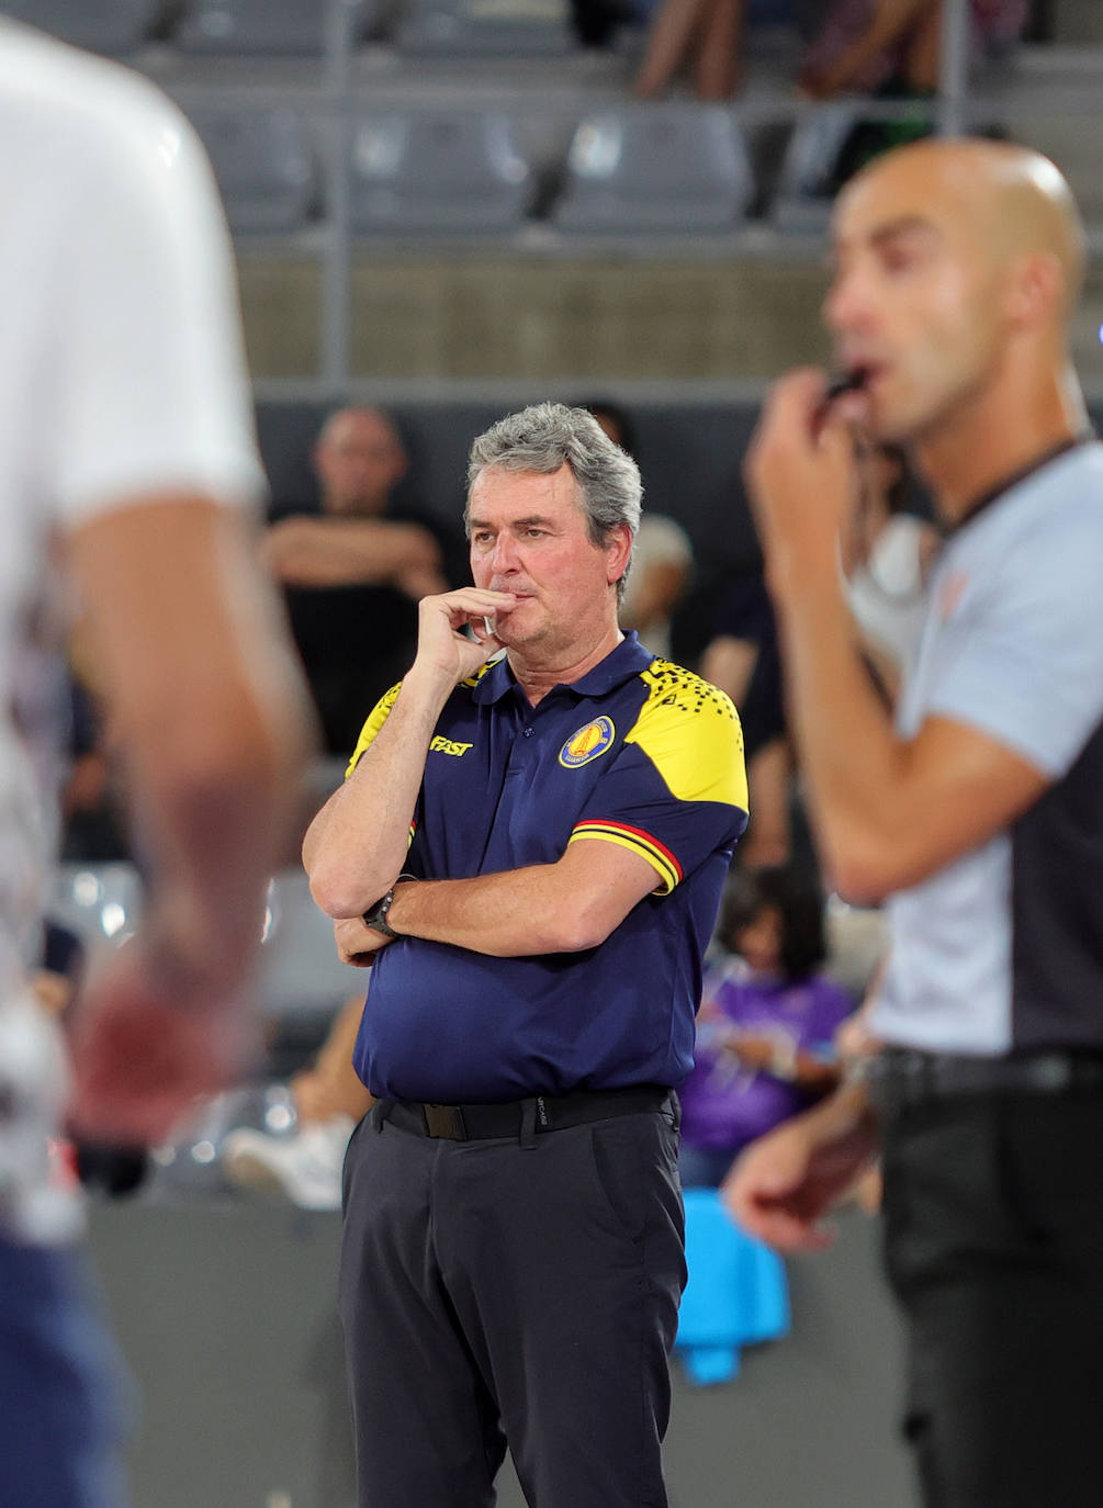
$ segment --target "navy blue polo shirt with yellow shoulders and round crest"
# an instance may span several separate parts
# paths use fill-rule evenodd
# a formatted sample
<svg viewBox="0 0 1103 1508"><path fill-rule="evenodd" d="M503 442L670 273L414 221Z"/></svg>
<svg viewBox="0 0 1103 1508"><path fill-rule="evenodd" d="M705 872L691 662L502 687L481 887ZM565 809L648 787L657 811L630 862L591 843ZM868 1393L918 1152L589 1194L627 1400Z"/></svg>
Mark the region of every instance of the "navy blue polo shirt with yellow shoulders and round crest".
<svg viewBox="0 0 1103 1508"><path fill-rule="evenodd" d="M350 771L397 695L368 718ZM356 1044L364 1083L385 1099L438 1104L677 1084L693 1066L702 958L745 825L735 707L635 633L536 707L507 661L490 661L438 721L407 872L466 879L604 841L646 858L655 891L582 953L391 942Z"/></svg>

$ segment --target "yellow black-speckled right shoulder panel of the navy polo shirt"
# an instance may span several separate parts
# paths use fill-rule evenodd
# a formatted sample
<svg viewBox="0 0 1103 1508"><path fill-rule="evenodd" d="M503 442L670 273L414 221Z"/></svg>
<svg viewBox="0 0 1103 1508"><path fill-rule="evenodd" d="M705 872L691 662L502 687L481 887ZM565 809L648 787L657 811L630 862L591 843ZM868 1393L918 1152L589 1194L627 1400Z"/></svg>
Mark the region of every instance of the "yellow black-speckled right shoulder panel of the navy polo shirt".
<svg viewBox="0 0 1103 1508"><path fill-rule="evenodd" d="M721 801L747 811L742 728L732 698L693 671L652 661L649 697L626 743L638 743L679 801Z"/></svg>

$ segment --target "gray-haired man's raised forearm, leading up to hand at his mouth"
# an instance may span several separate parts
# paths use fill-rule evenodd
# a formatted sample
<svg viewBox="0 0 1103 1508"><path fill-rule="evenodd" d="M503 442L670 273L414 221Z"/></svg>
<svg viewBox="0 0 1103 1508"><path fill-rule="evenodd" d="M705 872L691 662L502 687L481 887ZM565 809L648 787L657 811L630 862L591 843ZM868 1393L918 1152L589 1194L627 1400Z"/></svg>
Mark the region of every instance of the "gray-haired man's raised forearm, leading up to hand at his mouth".
<svg viewBox="0 0 1103 1508"><path fill-rule="evenodd" d="M450 692L444 679L410 673L371 748L311 823L303 864L327 915L361 915L401 873L429 742Z"/></svg>

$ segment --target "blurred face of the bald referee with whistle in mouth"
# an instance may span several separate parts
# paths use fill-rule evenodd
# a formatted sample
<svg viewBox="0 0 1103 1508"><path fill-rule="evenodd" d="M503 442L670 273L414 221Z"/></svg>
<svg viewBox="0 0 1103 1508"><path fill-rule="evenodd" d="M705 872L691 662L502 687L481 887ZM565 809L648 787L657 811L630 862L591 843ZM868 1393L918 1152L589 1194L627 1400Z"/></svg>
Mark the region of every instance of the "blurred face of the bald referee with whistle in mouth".
<svg viewBox="0 0 1103 1508"><path fill-rule="evenodd" d="M824 306L839 365L866 374L868 424L922 442L997 368L1000 273L952 184L914 163L874 169L843 195Z"/></svg>

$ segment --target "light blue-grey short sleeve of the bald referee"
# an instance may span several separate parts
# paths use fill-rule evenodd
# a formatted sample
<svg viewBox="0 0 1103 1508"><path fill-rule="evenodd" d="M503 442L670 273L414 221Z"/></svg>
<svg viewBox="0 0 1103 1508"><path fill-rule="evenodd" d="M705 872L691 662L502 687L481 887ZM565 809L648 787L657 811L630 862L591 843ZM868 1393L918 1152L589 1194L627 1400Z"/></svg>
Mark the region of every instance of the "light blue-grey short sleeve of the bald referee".
<svg viewBox="0 0 1103 1508"><path fill-rule="evenodd" d="M1103 716L1103 505L1065 510L1015 541L970 590L951 569L926 713L976 727L1056 780Z"/></svg>

